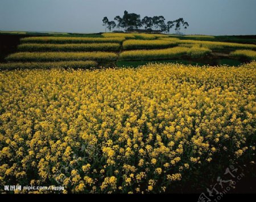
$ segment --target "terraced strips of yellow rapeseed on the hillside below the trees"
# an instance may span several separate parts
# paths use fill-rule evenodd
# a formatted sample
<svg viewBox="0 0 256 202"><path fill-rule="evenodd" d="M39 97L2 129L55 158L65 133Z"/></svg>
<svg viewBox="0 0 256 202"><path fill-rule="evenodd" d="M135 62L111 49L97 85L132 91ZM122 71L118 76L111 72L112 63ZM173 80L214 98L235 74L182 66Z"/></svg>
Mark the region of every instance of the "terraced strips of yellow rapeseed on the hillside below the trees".
<svg viewBox="0 0 256 202"><path fill-rule="evenodd" d="M96 37L97 36L97 37ZM92 36L35 36L20 39L0 69L138 66L138 62L241 64L255 59L256 44L212 41L214 36L102 33ZM207 41L209 40L209 41ZM134 62L133 62L134 61ZM222 63L220 62L222 61ZM40 62L40 65L36 65ZM63 62L67 62L64 65ZM225 63L224 62L224 63ZM91 65L91 66L90 66Z"/></svg>

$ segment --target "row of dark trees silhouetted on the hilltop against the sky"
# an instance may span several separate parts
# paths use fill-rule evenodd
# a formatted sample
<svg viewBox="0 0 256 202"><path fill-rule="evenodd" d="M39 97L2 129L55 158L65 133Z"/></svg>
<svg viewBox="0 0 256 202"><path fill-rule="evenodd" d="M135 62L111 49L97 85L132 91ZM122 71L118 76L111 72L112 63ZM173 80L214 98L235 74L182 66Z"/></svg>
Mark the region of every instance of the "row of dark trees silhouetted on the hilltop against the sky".
<svg viewBox="0 0 256 202"><path fill-rule="evenodd" d="M114 20L115 21L109 21L108 17L106 16L103 18L102 26L105 26L105 31L106 29L112 31L115 27L117 27L118 30L123 28L125 31L144 27L144 29L147 31L154 31L153 29L155 29L160 32L169 33L171 28L175 27L175 32L180 34L181 28L186 30L189 26L188 22L185 22L183 18L168 21L166 23L166 19L162 15L153 17L144 16L144 18L141 19L141 15L129 13L127 11L124 11L122 18L117 15L115 16Z"/></svg>

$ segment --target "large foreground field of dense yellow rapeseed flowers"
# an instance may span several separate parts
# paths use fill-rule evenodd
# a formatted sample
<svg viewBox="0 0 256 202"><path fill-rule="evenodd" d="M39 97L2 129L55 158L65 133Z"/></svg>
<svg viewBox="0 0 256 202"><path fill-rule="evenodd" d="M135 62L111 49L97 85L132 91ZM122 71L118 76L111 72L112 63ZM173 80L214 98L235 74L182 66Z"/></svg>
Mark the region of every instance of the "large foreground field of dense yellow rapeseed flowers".
<svg viewBox="0 0 256 202"><path fill-rule="evenodd" d="M256 62L0 71L0 184L159 193L252 161L255 81Z"/></svg>

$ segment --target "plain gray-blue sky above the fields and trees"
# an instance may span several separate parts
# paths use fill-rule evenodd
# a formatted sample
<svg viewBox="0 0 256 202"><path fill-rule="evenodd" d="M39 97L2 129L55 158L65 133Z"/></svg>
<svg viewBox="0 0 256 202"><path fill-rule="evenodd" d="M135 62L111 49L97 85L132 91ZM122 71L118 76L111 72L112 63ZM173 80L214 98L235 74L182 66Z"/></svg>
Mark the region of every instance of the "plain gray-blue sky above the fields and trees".
<svg viewBox="0 0 256 202"><path fill-rule="evenodd" d="M0 30L104 32L124 10L184 18L191 34L256 35L256 0L0 0Z"/></svg>

